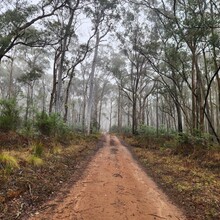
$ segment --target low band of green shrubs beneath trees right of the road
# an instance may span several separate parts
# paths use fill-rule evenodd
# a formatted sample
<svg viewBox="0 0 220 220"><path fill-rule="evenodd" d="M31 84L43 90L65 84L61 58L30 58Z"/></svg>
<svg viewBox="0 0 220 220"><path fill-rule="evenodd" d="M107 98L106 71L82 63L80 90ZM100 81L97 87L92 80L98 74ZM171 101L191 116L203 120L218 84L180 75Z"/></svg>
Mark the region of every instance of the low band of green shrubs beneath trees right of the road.
<svg viewBox="0 0 220 220"><path fill-rule="evenodd" d="M167 131L163 127L159 128L158 134L154 127L140 125L138 135L135 137L135 145L152 149L169 149L174 154L184 156L196 156L202 151L213 149L216 144L212 137L207 133L194 132L178 133Z"/></svg>

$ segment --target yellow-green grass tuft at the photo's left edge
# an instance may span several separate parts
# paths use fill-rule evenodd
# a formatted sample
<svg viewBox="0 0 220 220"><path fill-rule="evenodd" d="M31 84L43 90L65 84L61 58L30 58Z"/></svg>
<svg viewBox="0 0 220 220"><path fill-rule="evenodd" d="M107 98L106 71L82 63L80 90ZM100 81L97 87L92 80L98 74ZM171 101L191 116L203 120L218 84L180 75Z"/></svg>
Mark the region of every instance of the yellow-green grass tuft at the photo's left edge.
<svg viewBox="0 0 220 220"><path fill-rule="evenodd" d="M15 157L8 152L2 152L0 154L0 168L3 168L5 173L10 173L13 169L19 168L19 165Z"/></svg>

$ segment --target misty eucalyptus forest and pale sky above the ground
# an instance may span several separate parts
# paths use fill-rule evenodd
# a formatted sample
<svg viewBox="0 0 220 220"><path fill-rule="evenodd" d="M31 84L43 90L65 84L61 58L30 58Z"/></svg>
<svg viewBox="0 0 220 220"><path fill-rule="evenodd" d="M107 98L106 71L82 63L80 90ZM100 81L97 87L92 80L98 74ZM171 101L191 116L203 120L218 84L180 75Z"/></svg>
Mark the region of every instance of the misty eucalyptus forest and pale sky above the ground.
<svg viewBox="0 0 220 220"><path fill-rule="evenodd" d="M0 130L220 142L220 2L2 0Z"/></svg>

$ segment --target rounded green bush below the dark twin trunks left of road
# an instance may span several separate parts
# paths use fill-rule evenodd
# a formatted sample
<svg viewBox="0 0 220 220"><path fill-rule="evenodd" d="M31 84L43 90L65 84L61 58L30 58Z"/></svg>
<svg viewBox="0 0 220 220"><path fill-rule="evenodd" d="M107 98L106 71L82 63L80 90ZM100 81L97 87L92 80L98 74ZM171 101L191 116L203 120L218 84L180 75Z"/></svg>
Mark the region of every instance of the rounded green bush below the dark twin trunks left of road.
<svg viewBox="0 0 220 220"><path fill-rule="evenodd" d="M42 135L46 136L67 135L70 131L59 115L48 115L46 112L37 114L35 126Z"/></svg>

